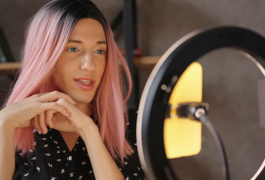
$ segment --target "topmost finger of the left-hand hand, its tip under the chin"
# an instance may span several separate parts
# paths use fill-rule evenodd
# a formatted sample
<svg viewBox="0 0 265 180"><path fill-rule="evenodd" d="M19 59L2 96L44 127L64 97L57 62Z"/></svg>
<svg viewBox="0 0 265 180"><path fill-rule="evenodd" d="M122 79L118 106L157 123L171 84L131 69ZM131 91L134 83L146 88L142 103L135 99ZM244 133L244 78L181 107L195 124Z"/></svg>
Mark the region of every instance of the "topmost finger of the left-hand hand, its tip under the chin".
<svg viewBox="0 0 265 180"><path fill-rule="evenodd" d="M40 102L50 102L54 101L56 99L64 98L65 100L69 101L71 104L75 105L76 102L67 94L59 92L59 91L52 91L50 93L47 93L43 96L39 97Z"/></svg>

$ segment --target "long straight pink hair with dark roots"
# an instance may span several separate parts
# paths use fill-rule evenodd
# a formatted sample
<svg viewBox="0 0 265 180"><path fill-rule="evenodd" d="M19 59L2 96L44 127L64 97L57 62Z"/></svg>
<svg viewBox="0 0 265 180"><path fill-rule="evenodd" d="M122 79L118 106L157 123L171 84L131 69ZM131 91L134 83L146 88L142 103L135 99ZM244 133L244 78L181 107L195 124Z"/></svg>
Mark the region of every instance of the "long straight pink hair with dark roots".
<svg viewBox="0 0 265 180"><path fill-rule="evenodd" d="M50 80L51 74L78 21L72 14L69 15L77 12L76 8L72 8L75 12L69 12L70 5L80 6L78 10L84 8L79 1L72 1L67 4L68 6L59 7L58 4L62 2L55 0L44 5L30 19L25 30L25 43L20 53L19 76L16 82L12 83L12 89L2 108L33 94L53 91L55 84ZM90 1L89 3L91 4ZM104 26L103 28L108 42L107 64L91 104L105 146L113 159L123 162L123 159L133 152L130 143L126 140L128 122L126 102L131 93L132 80L127 62L115 43L111 26L107 20L104 19L104 22L105 28ZM120 68L119 61L123 69ZM123 71L129 84L127 93ZM14 136L16 150L23 152L34 150L33 127L17 128Z"/></svg>

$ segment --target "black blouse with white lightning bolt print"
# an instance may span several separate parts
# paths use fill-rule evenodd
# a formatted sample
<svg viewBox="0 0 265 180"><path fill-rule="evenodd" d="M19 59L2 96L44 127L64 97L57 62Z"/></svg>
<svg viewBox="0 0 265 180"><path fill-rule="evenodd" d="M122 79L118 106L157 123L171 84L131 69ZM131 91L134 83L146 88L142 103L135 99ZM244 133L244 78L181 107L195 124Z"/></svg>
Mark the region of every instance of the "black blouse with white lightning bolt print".
<svg viewBox="0 0 265 180"><path fill-rule="evenodd" d="M129 125L127 139L134 149L134 153L124 159L123 168L120 161L116 161L126 180L145 179L143 167L139 162L136 144L137 111L129 110ZM91 116L96 124L94 116ZM16 170L13 180L51 179L95 179L92 165L86 150L85 142L78 138L76 145L70 152L61 133L48 127L48 133L39 134L34 131L35 150L23 154L16 151Z"/></svg>

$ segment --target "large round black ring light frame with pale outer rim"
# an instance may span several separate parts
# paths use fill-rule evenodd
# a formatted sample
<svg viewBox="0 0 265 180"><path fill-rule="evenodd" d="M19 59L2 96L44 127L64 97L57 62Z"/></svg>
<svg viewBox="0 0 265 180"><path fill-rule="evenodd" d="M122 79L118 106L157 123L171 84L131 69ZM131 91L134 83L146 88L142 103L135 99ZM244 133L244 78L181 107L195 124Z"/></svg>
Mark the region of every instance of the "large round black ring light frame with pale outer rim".
<svg viewBox="0 0 265 180"><path fill-rule="evenodd" d="M233 26L199 30L175 42L157 62L144 87L139 104L136 137L140 162L151 179L177 179L166 157L164 119L171 91L184 70L202 55L230 47L244 53L265 76L265 39L250 30ZM177 78L176 78L177 77ZM251 178L265 179L265 160ZM254 173L254 172L253 172Z"/></svg>

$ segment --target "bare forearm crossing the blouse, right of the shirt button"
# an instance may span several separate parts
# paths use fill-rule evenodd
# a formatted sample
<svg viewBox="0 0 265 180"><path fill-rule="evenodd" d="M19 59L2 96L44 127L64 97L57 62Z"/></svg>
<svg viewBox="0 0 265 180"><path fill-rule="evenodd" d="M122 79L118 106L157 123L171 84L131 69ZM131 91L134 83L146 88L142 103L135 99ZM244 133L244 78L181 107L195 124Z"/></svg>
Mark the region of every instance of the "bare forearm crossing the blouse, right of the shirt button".
<svg viewBox="0 0 265 180"><path fill-rule="evenodd" d="M91 126L90 126L91 127ZM94 126L92 126L94 127ZM83 135L96 179L125 179L100 137L98 127Z"/></svg>

